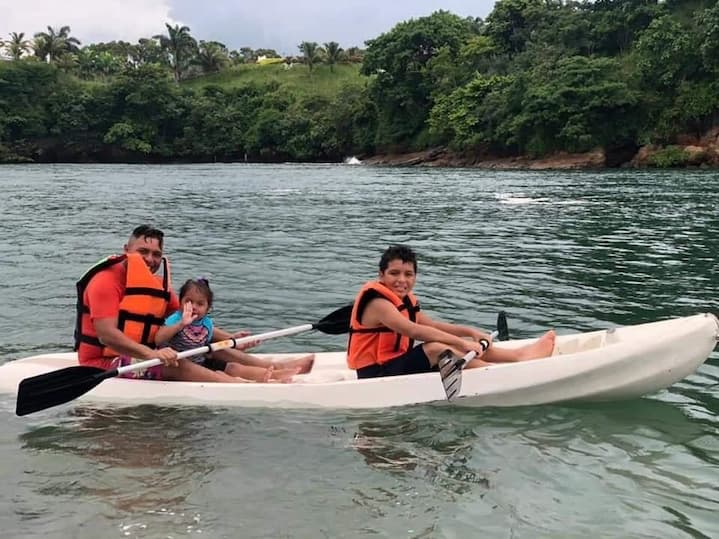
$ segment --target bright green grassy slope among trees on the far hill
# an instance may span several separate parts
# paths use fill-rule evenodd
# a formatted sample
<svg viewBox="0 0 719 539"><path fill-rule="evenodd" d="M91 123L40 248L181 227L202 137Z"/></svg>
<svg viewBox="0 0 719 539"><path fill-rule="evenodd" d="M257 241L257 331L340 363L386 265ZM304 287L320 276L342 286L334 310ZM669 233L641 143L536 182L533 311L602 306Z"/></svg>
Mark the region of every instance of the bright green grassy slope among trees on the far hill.
<svg viewBox="0 0 719 539"><path fill-rule="evenodd" d="M198 90L209 84L235 88L246 84L276 81L298 95L335 95L347 84L364 84L367 78L360 75L359 64L336 65L334 72L327 65L317 65L310 75L307 66L295 64L291 69L282 65L245 64L232 67L182 83L187 88Z"/></svg>

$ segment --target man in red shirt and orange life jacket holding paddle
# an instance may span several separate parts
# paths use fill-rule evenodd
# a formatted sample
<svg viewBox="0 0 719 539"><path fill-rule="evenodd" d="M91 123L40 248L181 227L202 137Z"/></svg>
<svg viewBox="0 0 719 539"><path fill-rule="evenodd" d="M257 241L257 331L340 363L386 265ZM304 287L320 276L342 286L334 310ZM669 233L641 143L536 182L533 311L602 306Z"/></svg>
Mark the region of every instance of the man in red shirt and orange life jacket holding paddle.
<svg viewBox="0 0 719 539"><path fill-rule="evenodd" d="M80 365L114 369L133 359L161 359L163 365L124 376L152 380L237 382L224 372L191 361L177 352L155 349L154 337L166 316L180 308L163 257L164 234L157 228L135 228L124 254L111 256L88 270L77 283L75 349ZM162 267L161 275L157 275Z"/></svg>

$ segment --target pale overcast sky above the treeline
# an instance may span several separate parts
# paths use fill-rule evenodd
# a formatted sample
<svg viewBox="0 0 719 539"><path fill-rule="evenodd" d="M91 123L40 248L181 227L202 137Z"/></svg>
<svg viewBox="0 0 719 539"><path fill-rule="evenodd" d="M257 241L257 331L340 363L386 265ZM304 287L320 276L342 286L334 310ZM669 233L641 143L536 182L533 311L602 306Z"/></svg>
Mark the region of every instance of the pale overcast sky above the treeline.
<svg viewBox="0 0 719 539"><path fill-rule="evenodd" d="M389 31L398 22L445 9L485 18L494 0L0 0L0 39L31 37L48 25L70 26L83 44L164 33L165 22L190 27L198 40L294 54L302 41L342 47Z"/></svg>

